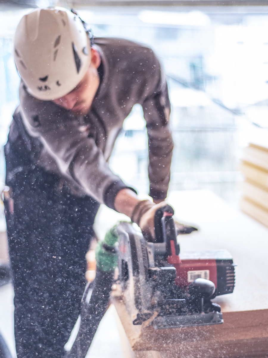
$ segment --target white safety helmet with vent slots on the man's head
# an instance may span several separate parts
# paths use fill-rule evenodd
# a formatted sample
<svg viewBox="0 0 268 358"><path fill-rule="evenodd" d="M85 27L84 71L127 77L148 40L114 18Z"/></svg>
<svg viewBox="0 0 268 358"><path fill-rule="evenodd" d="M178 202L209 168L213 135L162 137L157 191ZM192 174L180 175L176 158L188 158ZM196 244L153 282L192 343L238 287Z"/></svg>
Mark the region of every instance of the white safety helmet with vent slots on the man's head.
<svg viewBox="0 0 268 358"><path fill-rule="evenodd" d="M39 100L55 100L72 91L88 70L88 33L69 10L33 10L16 28L14 59L28 92Z"/></svg>

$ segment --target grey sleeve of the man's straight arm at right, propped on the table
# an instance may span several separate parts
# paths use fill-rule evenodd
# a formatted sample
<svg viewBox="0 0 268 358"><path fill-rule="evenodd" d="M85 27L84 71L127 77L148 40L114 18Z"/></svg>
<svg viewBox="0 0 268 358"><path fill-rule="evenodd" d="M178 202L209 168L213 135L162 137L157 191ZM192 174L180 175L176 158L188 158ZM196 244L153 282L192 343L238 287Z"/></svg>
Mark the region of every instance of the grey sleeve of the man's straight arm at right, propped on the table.
<svg viewBox="0 0 268 358"><path fill-rule="evenodd" d="M158 79L154 92L143 102L144 118L147 122L149 147L149 195L153 199L164 200L167 197L170 180L170 165L172 159L173 140L169 125L170 102L167 82L157 58L154 58L154 76L152 82Z"/></svg>

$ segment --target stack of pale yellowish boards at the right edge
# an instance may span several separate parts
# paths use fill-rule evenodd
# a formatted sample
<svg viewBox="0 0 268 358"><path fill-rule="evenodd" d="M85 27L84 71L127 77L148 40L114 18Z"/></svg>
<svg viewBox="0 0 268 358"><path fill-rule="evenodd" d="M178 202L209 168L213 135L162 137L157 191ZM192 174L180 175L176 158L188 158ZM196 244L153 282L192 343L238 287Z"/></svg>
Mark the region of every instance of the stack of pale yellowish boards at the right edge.
<svg viewBox="0 0 268 358"><path fill-rule="evenodd" d="M244 149L240 170L242 183L242 211L268 226L268 146L249 144Z"/></svg>

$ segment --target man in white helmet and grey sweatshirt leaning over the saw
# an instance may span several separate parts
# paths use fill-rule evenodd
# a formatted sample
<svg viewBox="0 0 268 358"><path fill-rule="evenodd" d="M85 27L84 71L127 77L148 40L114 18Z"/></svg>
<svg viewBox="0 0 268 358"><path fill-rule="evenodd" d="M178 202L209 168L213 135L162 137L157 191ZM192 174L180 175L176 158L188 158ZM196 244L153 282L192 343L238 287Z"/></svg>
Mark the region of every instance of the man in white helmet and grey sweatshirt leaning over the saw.
<svg viewBox="0 0 268 358"><path fill-rule="evenodd" d="M99 203L126 214L154 239L173 148L168 90L151 49L115 38L90 44L84 23L62 8L37 9L21 19L14 58L20 105L5 153L14 200L6 218L16 349L19 358L58 358L79 315ZM107 163L135 103L147 121L154 203L140 201Z"/></svg>

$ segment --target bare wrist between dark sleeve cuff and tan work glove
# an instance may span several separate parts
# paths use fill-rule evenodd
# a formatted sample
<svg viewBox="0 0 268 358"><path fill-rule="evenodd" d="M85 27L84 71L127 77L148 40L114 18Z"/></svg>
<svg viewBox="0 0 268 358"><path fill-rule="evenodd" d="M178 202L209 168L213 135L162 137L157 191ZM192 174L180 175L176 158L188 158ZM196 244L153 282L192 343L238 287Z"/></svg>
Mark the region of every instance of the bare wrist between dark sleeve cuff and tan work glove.
<svg viewBox="0 0 268 358"><path fill-rule="evenodd" d="M119 213L131 217L135 206L140 202L137 194L130 189L121 189L115 197L114 207Z"/></svg>

